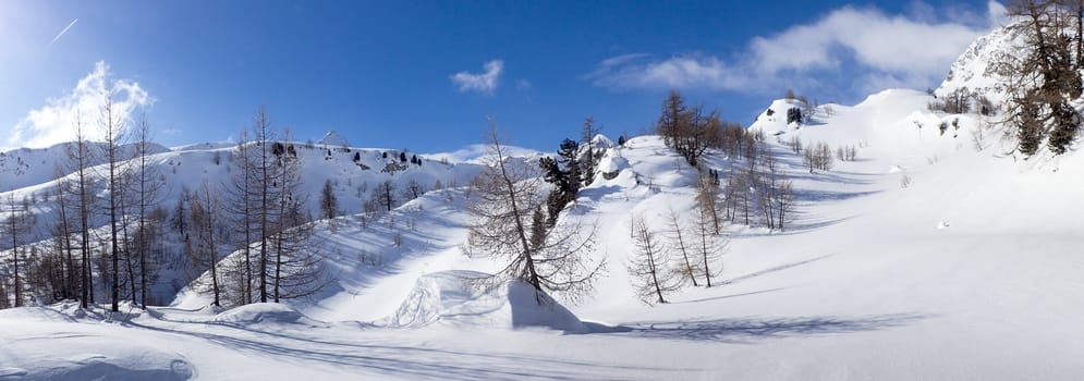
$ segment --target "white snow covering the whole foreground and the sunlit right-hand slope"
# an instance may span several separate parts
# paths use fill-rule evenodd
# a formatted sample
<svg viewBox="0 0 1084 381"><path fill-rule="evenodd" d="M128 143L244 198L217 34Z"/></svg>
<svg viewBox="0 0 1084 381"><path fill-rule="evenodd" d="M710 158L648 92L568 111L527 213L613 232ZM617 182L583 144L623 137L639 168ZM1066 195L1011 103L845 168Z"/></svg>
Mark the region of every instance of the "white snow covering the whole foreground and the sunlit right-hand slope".
<svg viewBox="0 0 1084 381"><path fill-rule="evenodd" d="M64 305L0 311L0 379L94 379L102 369L214 380L1081 379L1084 155L1014 160L996 125L975 147L986 121L930 112L931 99L884 91L821 106L800 126L785 124L792 101L770 105L774 115L751 128L766 133L794 183L795 221L783 232L728 226L719 284L655 307L622 271L629 221L642 216L662 234L668 209L692 216L696 172L658 137L608 149L606 169L618 173L597 176L559 223L597 225L593 255L609 271L592 297L544 324L577 318L585 334L517 328L517 286L479 292L456 281L470 273L448 272L503 266L460 249L471 220L458 188L367 226L356 216L333 229L320 222L313 243L336 276L310 299L218 311L186 290L170 307L119 316ZM958 130L939 131L957 119ZM781 144L795 136L854 146L857 159L811 174ZM186 155L209 156L197 152ZM744 164L719 153L704 161ZM462 185L466 172L451 176Z"/></svg>

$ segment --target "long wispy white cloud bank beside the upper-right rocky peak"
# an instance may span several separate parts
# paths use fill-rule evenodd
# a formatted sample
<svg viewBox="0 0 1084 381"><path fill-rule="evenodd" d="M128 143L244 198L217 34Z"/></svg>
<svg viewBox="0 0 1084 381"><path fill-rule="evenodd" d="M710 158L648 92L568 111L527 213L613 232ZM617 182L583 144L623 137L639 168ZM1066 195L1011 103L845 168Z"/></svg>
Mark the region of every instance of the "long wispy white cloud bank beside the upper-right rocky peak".
<svg viewBox="0 0 1084 381"><path fill-rule="evenodd" d="M933 9L922 2L911 8L910 16L890 16L876 9L837 9L811 24L755 37L731 59L619 56L601 61L587 78L613 88L778 91L780 86L811 83L817 73L835 71L853 74L847 75L853 81L876 77L878 84L924 88L941 79L975 38L1004 21L1004 8L996 1L987 4L982 25L967 20L937 22ZM858 72L840 73L844 67Z"/></svg>

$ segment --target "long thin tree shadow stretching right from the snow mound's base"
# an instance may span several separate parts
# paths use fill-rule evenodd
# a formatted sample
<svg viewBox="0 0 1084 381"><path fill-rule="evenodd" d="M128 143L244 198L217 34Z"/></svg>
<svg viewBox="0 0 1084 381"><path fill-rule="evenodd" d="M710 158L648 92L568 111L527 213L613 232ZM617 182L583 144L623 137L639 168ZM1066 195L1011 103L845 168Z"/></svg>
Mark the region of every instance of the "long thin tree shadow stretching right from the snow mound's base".
<svg viewBox="0 0 1084 381"><path fill-rule="evenodd" d="M919 314L874 315L858 318L731 318L686 321L643 321L608 327L590 323L592 334L710 341L730 344L756 344L769 339L831 335L886 330L901 327L928 316Z"/></svg>

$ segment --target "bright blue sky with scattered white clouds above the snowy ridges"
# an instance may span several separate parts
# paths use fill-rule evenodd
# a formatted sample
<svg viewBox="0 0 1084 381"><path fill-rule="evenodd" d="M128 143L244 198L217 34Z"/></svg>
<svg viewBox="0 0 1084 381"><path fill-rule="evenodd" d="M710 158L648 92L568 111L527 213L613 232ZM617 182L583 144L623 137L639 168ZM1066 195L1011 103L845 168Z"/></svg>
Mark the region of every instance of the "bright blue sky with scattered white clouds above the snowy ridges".
<svg viewBox="0 0 1084 381"><path fill-rule="evenodd" d="M747 124L793 88L936 87L1001 22L987 1L0 2L0 147L70 136L100 87L157 140L226 140L266 105L300 140L451 151L494 115L552 150L587 115L648 128L670 88ZM86 114L86 111L84 111ZM84 116L85 118L85 116Z"/></svg>

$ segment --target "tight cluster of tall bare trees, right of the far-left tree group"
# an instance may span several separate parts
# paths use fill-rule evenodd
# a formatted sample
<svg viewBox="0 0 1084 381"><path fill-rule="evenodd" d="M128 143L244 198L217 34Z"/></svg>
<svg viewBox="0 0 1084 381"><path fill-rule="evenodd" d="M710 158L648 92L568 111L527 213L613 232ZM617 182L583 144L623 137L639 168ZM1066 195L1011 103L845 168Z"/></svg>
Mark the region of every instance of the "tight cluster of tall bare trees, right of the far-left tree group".
<svg viewBox="0 0 1084 381"><path fill-rule="evenodd" d="M243 133L233 151L223 208L239 255L222 266L232 282L229 300L236 305L280 302L312 295L326 283L320 257L307 242L310 214L303 210L307 195L300 192L300 158L289 128L283 140L272 139L270 118L260 108L253 118L252 136Z"/></svg>

